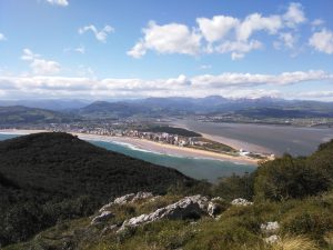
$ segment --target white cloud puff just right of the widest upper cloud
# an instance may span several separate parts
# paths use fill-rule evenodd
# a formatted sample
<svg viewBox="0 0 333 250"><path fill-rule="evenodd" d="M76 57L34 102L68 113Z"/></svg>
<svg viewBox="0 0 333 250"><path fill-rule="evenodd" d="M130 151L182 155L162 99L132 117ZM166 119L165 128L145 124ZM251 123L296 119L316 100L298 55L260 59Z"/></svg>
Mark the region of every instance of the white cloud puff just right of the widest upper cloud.
<svg viewBox="0 0 333 250"><path fill-rule="evenodd" d="M226 16L215 16L212 19L198 18L196 22L205 40L215 42L224 38L229 31L239 26L239 19Z"/></svg>

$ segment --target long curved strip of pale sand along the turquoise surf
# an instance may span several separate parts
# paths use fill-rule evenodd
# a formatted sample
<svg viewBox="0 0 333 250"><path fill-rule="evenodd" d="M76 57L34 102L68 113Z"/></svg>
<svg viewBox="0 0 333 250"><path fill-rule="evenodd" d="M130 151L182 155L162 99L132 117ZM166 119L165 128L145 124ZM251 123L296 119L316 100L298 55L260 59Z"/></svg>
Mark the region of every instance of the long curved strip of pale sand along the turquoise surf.
<svg viewBox="0 0 333 250"><path fill-rule="evenodd" d="M3 134L30 134L38 132L50 132L47 130L0 130L0 133ZM100 134L89 134L89 133L75 133L70 132L73 136L78 136L83 140L94 140L94 141L105 141L105 142L114 142L114 143L123 143L132 146L139 150L150 151L154 153L162 153L168 156L175 157L185 157L185 158L196 158L196 159L211 159L211 160L220 160L220 161L230 161L239 164L252 164L258 166L259 160L252 159L249 157L234 157L226 153L218 153L211 152L200 149L192 149L186 147L176 147L173 144L154 142L145 139L139 138L130 138L130 137L109 137L109 136L100 136Z"/></svg>

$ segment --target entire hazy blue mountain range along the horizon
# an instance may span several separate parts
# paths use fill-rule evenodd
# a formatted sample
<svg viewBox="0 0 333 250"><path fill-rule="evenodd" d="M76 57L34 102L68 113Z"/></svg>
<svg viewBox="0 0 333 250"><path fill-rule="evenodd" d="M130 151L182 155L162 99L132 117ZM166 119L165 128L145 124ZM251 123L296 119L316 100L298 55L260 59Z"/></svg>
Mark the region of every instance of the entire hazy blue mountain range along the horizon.
<svg viewBox="0 0 333 250"><path fill-rule="evenodd" d="M70 122L87 118L165 118L196 114L239 116L249 119L333 118L333 102L275 98L226 99L211 96L205 98L172 97L110 102L94 101L92 103L75 100L37 100L21 101L21 103L30 108L22 106L0 108L0 124Z"/></svg>

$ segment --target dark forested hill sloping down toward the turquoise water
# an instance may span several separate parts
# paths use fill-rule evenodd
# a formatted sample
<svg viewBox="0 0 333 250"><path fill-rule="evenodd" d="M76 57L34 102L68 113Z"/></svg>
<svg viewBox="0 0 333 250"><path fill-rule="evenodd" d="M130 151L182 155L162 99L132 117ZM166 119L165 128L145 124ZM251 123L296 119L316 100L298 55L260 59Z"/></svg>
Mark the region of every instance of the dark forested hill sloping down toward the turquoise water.
<svg viewBox="0 0 333 250"><path fill-rule="evenodd" d="M0 142L0 244L21 241L61 219L87 216L129 192L164 193L192 179L82 141L37 133Z"/></svg>

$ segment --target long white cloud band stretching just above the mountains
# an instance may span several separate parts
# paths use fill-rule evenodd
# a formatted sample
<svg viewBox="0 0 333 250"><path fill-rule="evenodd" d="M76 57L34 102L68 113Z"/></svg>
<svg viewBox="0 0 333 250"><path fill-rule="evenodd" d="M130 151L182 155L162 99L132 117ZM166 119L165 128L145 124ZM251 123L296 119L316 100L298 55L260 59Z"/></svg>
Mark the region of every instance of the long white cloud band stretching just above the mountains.
<svg viewBox="0 0 333 250"><path fill-rule="evenodd" d="M29 57L29 56L28 56ZM261 90L264 86L284 86L305 81L332 81L333 76L324 71L296 71L281 74L222 73L202 74L188 78L180 74L169 79L97 79L89 77L0 77L0 90L8 98L71 97L71 98L112 98L112 97L259 97L279 94L276 90ZM266 94L265 94L266 93Z"/></svg>

